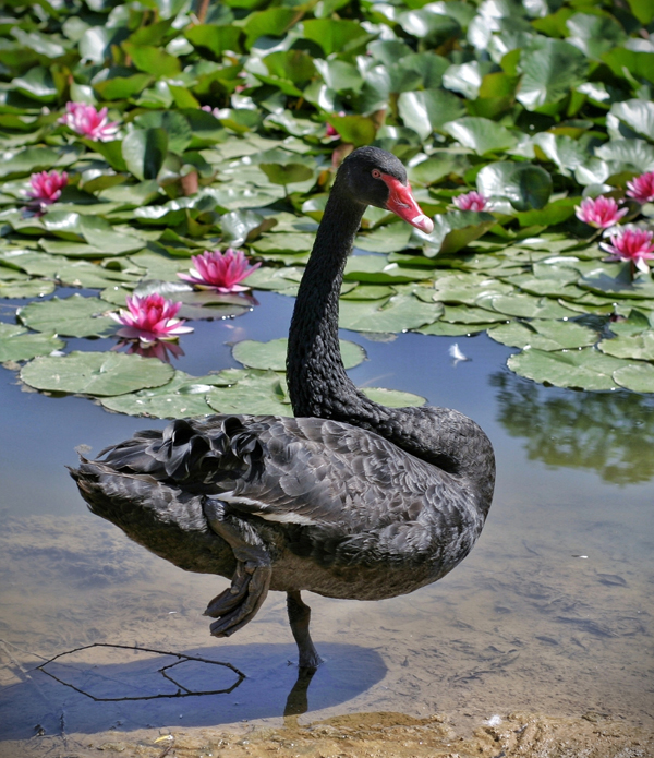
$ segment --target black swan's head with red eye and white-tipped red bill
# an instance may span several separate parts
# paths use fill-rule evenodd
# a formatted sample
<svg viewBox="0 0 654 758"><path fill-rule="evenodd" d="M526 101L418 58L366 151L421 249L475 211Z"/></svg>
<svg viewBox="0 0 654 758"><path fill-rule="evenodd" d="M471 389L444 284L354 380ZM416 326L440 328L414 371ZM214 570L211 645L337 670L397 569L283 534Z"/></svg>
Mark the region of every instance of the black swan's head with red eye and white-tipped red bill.
<svg viewBox="0 0 654 758"><path fill-rule="evenodd" d="M392 153L372 146L350 153L338 171L338 189L353 202L391 210L427 234L434 230L413 197L407 169Z"/></svg>

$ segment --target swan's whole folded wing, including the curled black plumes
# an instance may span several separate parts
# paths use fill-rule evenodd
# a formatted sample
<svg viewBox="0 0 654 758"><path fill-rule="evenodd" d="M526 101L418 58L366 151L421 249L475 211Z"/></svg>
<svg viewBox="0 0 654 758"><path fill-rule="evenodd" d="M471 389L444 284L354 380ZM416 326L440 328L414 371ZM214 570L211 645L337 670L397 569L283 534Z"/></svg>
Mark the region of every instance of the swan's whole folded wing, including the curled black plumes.
<svg viewBox="0 0 654 758"><path fill-rule="evenodd" d="M420 520L451 477L379 435L325 419L210 417L141 432L106 464L213 496L243 515L352 529Z"/></svg>

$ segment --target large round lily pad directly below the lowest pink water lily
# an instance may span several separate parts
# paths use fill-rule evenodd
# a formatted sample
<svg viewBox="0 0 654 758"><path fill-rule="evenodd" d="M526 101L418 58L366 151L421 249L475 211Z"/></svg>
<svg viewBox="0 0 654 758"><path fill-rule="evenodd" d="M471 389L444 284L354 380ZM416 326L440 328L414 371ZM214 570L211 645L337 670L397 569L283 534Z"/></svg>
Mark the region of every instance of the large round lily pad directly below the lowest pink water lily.
<svg viewBox="0 0 654 758"><path fill-rule="evenodd" d="M36 358L23 366L21 378L36 389L102 396L158 387L173 373L172 366L152 358L75 351L61 358Z"/></svg>

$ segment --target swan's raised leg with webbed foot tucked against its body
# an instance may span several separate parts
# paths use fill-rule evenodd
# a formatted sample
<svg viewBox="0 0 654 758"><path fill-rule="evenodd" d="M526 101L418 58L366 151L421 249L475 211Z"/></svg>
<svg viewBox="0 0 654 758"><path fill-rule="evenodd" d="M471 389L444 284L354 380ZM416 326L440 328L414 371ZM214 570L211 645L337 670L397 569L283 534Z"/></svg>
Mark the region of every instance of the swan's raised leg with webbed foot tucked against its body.
<svg viewBox="0 0 654 758"><path fill-rule="evenodd" d="M270 556L250 525L227 516L222 503L206 498L203 508L211 530L229 544L237 558L231 587L214 598L204 613L219 619L210 626L214 637L229 637L252 621L263 605L272 576Z"/></svg>

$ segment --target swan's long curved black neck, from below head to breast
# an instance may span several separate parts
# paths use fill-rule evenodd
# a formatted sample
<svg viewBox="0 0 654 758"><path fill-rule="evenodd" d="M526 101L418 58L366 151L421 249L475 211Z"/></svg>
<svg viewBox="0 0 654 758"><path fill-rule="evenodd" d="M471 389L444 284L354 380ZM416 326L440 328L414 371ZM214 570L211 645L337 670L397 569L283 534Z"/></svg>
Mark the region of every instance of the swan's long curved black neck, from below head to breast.
<svg viewBox="0 0 654 758"><path fill-rule="evenodd" d="M364 205L339 192L337 177L289 332L287 378L293 412L368 429L417 458L468 478L485 513L493 496L495 459L484 432L448 408L386 408L373 402L346 373L338 341L338 301L364 210Z"/></svg>

